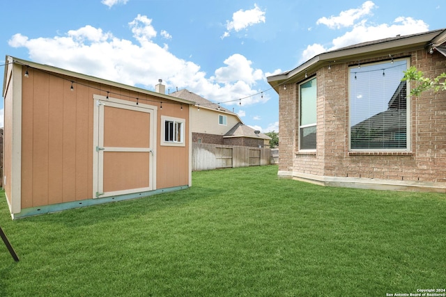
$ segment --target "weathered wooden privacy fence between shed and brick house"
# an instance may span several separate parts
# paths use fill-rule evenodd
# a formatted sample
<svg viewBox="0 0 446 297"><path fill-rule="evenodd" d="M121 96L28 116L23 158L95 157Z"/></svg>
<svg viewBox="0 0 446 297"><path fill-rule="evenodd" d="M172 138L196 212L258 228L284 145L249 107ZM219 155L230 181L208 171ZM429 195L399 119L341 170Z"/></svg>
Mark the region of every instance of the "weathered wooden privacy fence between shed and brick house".
<svg viewBox="0 0 446 297"><path fill-rule="evenodd" d="M270 148L192 143L192 170L269 165Z"/></svg>

